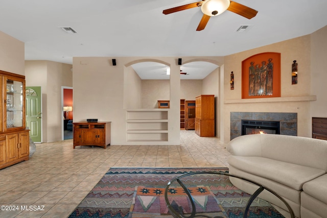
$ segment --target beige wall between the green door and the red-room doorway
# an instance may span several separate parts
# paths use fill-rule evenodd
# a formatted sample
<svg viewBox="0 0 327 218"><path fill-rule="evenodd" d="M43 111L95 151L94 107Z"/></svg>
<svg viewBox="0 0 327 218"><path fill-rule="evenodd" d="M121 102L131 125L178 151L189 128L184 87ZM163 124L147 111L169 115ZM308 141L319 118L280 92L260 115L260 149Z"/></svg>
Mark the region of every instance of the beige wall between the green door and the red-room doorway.
<svg viewBox="0 0 327 218"><path fill-rule="evenodd" d="M71 64L25 61L26 86L41 86L42 142L62 139L61 87L73 86Z"/></svg>

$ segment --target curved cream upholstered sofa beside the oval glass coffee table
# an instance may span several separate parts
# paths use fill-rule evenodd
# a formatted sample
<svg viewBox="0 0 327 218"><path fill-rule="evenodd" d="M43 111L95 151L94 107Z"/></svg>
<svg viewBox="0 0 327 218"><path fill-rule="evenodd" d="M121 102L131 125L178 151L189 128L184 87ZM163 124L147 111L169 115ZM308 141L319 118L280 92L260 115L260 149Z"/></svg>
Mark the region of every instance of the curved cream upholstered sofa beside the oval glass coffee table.
<svg viewBox="0 0 327 218"><path fill-rule="evenodd" d="M327 217L327 141L298 136L252 134L227 144L229 172L259 182L281 195L297 217ZM230 177L236 187L258 187ZM263 191L260 198L287 210ZM279 208L279 209L281 209Z"/></svg>

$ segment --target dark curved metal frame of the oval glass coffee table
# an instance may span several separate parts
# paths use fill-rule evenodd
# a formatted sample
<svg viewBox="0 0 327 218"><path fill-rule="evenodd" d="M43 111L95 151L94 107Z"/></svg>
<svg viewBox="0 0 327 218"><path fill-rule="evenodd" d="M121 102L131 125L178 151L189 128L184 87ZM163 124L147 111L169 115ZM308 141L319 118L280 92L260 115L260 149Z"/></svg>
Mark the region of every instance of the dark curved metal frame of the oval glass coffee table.
<svg viewBox="0 0 327 218"><path fill-rule="evenodd" d="M192 197L191 195L191 191L188 187L186 187L182 181L182 179L184 177L188 177L188 176L193 176L193 175L197 175L197 174L216 174L216 175L223 175L223 176L229 176L229 177L235 177L235 178L238 178L238 179L241 179L241 180L244 180L244 181L247 181L249 183L252 183L254 185L257 185L259 188L253 193L253 195L250 197L250 199L248 200L247 204L246 204L246 207L245 207L245 210L244 210L244 216L243 217L247 217L248 216L248 211L249 211L249 208L252 204L252 202L254 201L255 198L257 198L259 196L259 194L263 191L263 190L267 190L269 191L270 193L272 193L274 196L276 196L278 199L280 199L288 208L289 212L290 212L290 215L292 218L295 218L295 215L294 215L294 212L292 210L292 208L290 207L290 205L281 197L279 196L275 191L273 191L272 189L258 183L258 182L255 182L253 180L250 180L250 179L247 179L247 178L244 178L244 177L241 177L241 176L237 176L237 175L233 175L233 174L229 174L229 173L226 173L226 172L221 172L221 171L202 171L202 172L191 172L191 173L185 173L181 176L178 176L174 179L172 179L171 181L168 182L167 186L166 186L166 189L165 189L165 200L166 200L166 205L167 205L167 208L169 210L169 212L171 213L171 215L173 215L174 217L176 218L193 218L193 217L208 217L208 218L220 218L222 216L209 216L209 215L206 215L206 214L197 214L196 212L196 206L195 206L195 203L194 203L194 198ZM168 192L171 191L172 189L170 188L172 184L175 184L177 182L183 189L183 191L186 193L186 195L188 196L190 202L191 202L191 212L188 213L188 214L185 214L183 212L183 207L182 206L179 206L178 209L175 208L171 205L171 203L169 202L169 199L168 199Z"/></svg>

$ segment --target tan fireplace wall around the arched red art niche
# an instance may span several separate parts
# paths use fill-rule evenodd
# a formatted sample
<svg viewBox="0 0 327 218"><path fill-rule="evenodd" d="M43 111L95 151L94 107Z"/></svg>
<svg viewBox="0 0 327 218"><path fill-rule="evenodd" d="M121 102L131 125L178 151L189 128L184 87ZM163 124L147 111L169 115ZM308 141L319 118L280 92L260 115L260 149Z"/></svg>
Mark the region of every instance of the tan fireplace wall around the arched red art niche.
<svg viewBox="0 0 327 218"><path fill-rule="evenodd" d="M230 140L230 112L293 112L298 114L297 135L311 137L310 101L299 100L300 96L311 95L311 35L306 35L257 49L229 55L224 63L224 135L223 141ZM281 53L281 102L260 100L259 102L241 100L241 64L252 55L263 52ZM291 65L298 63L298 84L291 83ZM230 90L229 74L234 72L235 90ZM283 101L283 98L291 97ZM239 101L228 101L239 100ZM262 102L260 102L262 101ZM275 100L274 100L275 101ZM318 103L319 104L319 103Z"/></svg>

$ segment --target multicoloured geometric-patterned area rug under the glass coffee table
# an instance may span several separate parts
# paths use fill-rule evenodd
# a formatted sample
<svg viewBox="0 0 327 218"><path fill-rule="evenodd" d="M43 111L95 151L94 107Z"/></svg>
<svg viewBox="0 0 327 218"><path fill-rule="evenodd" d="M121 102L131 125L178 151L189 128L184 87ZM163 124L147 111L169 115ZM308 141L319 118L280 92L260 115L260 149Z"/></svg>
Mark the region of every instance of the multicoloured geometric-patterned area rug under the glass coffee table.
<svg viewBox="0 0 327 218"><path fill-rule="evenodd" d="M165 201L166 185L182 174L199 171L228 172L228 168L110 168L69 217L173 217ZM243 217L250 195L233 186L227 176L196 174L182 181L192 193L197 214ZM190 215L190 200L177 182L170 186L168 199ZM268 202L255 199L248 217L284 216Z"/></svg>

